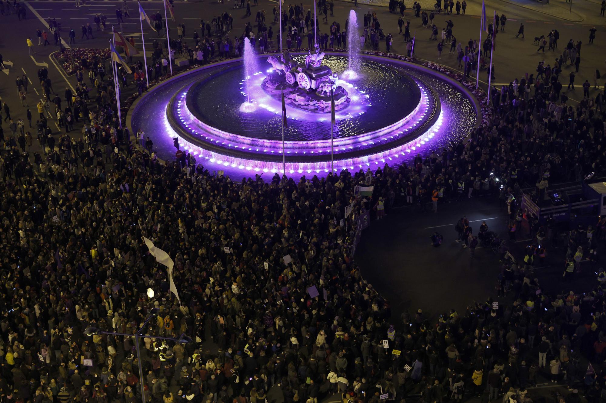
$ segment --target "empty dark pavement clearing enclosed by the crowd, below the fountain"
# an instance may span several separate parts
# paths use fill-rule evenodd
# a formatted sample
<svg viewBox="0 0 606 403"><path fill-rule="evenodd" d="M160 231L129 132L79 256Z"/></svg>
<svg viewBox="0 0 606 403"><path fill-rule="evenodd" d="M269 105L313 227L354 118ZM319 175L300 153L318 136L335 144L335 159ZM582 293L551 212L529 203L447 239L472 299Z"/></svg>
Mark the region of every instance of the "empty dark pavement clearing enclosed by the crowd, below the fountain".
<svg viewBox="0 0 606 403"><path fill-rule="evenodd" d="M516 241L508 241L507 209L499 208L495 197L472 197L439 205L437 213L431 211L430 205L427 212L420 210L418 205L393 209L383 220L372 221L356 248L355 258L362 275L390 301L393 320L399 320L404 310L413 314L422 309L433 319L450 309L462 313L473 301L483 302L488 297L513 303L513 293L496 298L496 281L504 264L499 262L498 254L490 247L478 246L472 259L470 250L455 241L454 230L463 215L470 220L474 234L486 221L491 231L507 240L511 254L520 262L524 247L531 241L521 233ZM444 237L439 247L431 244L434 231ZM589 262L582 263L582 273L571 284L564 283L565 243L546 245L545 266L535 269L534 274L543 292L587 292L598 284Z"/></svg>

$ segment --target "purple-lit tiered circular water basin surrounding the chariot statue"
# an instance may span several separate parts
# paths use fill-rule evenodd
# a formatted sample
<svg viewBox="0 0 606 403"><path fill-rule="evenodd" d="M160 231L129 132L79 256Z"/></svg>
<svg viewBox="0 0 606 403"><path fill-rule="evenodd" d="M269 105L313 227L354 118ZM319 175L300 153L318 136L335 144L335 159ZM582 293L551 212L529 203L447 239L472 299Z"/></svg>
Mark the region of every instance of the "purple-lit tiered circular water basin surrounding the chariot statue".
<svg viewBox="0 0 606 403"><path fill-rule="evenodd" d="M328 56L339 56L339 54ZM259 57L261 62L264 57ZM347 119L347 116L339 116L338 113L333 148L335 170L366 169L367 167L382 166L384 163L397 165L399 162L411 160L418 152L428 155L431 149L437 150L448 146L451 141L467 136L476 126L478 106L474 103L471 94L458 82L436 71L397 59L361 55L362 64L364 65L367 61L375 62L378 68L390 72L388 74L393 76L410 78L411 83L419 91L419 98L413 97L410 109L405 109L410 101L406 91L400 93L399 96L385 96L387 100L383 105L387 105L389 108L379 110L379 108L375 108L378 102L373 102L364 114L359 115L370 117L362 123L360 120ZM224 136L212 138L204 133L196 134L195 131L198 128L187 120L191 117L184 116L188 113L185 108L185 99L193 96L188 93L189 88L207 77L218 77L221 76L221 73L227 74L233 69L237 70L239 63L241 61L236 59L208 65L179 74L179 76L157 85L150 90L149 94L139 97L133 104L127 116L128 126L133 132L139 128L143 129L145 134L154 140L155 151L161 157L170 158L174 154L176 150L172 146L172 139L180 137L181 149L194 155L197 162L204 164L205 168L224 170L225 174L230 174L232 177L250 175L251 172L282 172L281 108L274 108L273 111L270 111L261 106L262 102L259 104L258 100L252 97L252 102L256 102L258 108L264 113L265 120L262 122L258 120L261 122L259 127L263 128L264 125L273 123L277 123L277 125L271 131L242 131L239 128L247 128L246 120L249 114L240 113L238 103L244 100L245 94L241 94L241 97L232 94L231 96L235 99L233 106L238 107L234 108L236 111L230 110L228 114L215 116L215 119L225 121L225 126L222 128L226 129L208 125L208 129L212 131L208 134ZM362 77L365 77L367 73L362 69ZM258 77L259 80L262 78ZM398 88L389 80L372 80L368 83L370 90L365 90L358 85L361 82L364 80L350 83L351 88L359 87L358 90L365 91L361 94L369 97L381 98L384 96L382 91ZM240 76L234 84L236 89L243 87L241 83ZM227 92L221 84L223 82L219 82L216 88L222 88L222 92ZM390 84L392 84L391 87ZM221 91L217 90L207 99L197 100L195 103L201 109L208 106L214 112L220 111L221 108L225 108L225 105L221 104L222 98L217 97L222 95ZM274 101L272 99L272 102ZM203 105L200 104L201 102ZM270 105L265 106L273 108ZM257 114L258 111L252 115ZM181 116L179 116L179 112L181 112ZM293 115L288 118L288 129L285 129L284 168L286 172L290 174L293 172L315 172L316 174L328 172L331 169L330 114L322 117L323 121L305 122L296 115L296 111L292 113ZM395 119L387 121L386 117L393 117L394 113L396 114ZM290 115L290 111L288 114ZM318 114L308 114L318 117ZM408 117L409 114L411 114L410 117ZM186 121L182 122L181 118ZM410 125L410 129L407 126L401 126L401 129L392 126L407 118L408 120L404 124ZM245 122L242 123L242 120ZM313 125L307 126L308 129L306 129L305 125L296 124L301 122L313 123ZM375 126L364 130L364 122L370 122ZM230 123L233 123L233 126L238 129L233 129ZM341 127L344 129L339 130ZM359 132L353 131L358 127L361 128ZM271 148L263 148L264 145ZM314 153L311 154L311 151Z"/></svg>

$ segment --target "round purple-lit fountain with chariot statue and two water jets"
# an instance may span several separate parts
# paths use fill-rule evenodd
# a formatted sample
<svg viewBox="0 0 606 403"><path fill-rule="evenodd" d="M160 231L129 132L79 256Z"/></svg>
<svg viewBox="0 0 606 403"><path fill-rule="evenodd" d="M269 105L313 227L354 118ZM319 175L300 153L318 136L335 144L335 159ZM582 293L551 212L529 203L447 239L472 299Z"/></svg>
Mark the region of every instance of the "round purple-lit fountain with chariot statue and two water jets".
<svg viewBox="0 0 606 403"><path fill-rule="evenodd" d="M352 11L350 38L359 38L356 20ZM460 83L401 58L360 53L358 40L348 41L347 52L315 45L269 54L245 42L244 57L186 71L139 98L127 117L133 133L143 129L168 158L179 137L205 168L236 177L325 175L331 152L335 171L397 165L450 145L478 123L478 106Z"/></svg>

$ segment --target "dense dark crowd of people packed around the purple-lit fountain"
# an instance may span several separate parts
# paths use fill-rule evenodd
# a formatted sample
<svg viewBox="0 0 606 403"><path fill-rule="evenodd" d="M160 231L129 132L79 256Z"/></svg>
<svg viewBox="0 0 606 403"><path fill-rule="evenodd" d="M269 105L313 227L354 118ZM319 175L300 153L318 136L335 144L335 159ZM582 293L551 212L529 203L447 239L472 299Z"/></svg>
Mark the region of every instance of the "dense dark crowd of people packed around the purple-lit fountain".
<svg viewBox="0 0 606 403"><path fill-rule="evenodd" d="M365 16L364 36L378 34L375 18ZM437 211L486 195L501 198L515 223L524 214L514 201L522 188L604 174L604 100L600 93L570 105L563 57L493 88L487 124L408 164L237 182L211 175L187 153L162 162L144 137L147 147L138 147L119 124L113 77L102 61L95 65L101 70L80 71L75 93L61 96L41 68L48 101L28 115L29 128L21 120L13 130L3 108L0 121L12 131L0 125L3 402L145 395L155 403L315 403L339 393L344 403L385 394L398 402L481 395L523 403L544 379L568 387L553 396L558 403L606 399L601 284L547 295L529 264L507 263L498 292L513 291L511 305L496 309L488 298L464 312L395 315L353 260L356 221L367 212L383 217L406 203ZM135 82L143 81L141 68ZM122 85L132 81L120 74ZM27 93L27 84L18 90ZM65 133L50 128L55 117ZM356 197L356 185L375 186L372 197ZM353 209L341 225L345 206ZM598 221L590 240L571 236L571 255L587 243L602 247L605 225ZM462 218L457 229L468 246L488 228L474 234ZM545 238L538 225L531 233ZM143 237L175 261L175 287ZM442 235L432 241L440 246ZM131 335L150 317L141 355L134 336L85 332Z"/></svg>

